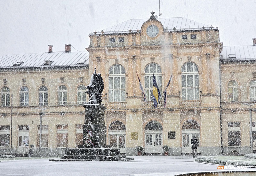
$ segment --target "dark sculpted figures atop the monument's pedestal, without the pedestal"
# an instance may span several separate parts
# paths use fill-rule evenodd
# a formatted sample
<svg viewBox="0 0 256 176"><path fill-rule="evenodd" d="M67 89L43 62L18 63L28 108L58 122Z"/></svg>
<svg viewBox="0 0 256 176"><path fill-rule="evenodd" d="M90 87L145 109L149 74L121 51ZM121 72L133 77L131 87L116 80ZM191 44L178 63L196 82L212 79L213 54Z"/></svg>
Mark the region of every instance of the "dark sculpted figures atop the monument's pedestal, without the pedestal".
<svg viewBox="0 0 256 176"><path fill-rule="evenodd" d="M94 68L94 73L91 76L90 84L86 86L86 93L89 94L89 101L86 104L101 104L101 93L104 89L104 82L100 73L96 73L96 68Z"/></svg>

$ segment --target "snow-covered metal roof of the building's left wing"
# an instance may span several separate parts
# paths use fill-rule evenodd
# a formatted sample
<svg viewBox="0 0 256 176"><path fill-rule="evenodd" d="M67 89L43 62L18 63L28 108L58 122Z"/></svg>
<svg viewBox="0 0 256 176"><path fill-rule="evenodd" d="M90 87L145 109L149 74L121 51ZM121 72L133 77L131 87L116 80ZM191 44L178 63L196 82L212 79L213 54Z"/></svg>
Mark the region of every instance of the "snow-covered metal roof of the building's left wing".
<svg viewBox="0 0 256 176"><path fill-rule="evenodd" d="M0 57L0 68L87 66L89 52L44 52Z"/></svg>

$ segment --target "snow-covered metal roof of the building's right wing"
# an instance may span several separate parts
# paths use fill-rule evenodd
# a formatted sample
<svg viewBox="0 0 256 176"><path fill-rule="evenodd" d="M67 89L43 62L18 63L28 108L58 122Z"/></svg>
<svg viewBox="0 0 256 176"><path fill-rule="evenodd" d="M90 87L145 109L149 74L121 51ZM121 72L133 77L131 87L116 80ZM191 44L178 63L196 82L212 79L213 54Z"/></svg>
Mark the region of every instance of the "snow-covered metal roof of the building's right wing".
<svg viewBox="0 0 256 176"><path fill-rule="evenodd" d="M256 46L223 46L222 60L256 60Z"/></svg>

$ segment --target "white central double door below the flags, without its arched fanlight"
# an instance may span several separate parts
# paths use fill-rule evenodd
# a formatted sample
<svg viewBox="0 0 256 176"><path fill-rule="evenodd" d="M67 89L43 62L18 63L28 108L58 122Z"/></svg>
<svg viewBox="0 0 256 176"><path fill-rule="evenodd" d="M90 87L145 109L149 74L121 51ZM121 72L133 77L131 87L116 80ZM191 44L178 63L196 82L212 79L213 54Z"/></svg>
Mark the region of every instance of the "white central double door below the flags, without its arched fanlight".
<svg viewBox="0 0 256 176"><path fill-rule="evenodd" d="M163 152L163 132L145 132L145 153Z"/></svg>

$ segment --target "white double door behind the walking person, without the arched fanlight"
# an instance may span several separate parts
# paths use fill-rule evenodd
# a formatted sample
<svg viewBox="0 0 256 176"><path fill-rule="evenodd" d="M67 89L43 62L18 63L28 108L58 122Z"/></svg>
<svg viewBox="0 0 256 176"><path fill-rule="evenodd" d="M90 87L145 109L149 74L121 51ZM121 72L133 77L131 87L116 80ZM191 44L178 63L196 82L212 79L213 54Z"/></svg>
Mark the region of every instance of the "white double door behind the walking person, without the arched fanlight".
<svg viewBox="0 0 256 176"><path fill-rule="evenodd" d="M191 139L193 137L196 137L199 144L197 146L197 152L200 152L200 130L193 130L193 131L182 131L182 152L183 153L192 153L192 145L191 145Z"/></svg>

